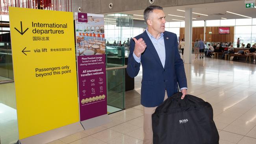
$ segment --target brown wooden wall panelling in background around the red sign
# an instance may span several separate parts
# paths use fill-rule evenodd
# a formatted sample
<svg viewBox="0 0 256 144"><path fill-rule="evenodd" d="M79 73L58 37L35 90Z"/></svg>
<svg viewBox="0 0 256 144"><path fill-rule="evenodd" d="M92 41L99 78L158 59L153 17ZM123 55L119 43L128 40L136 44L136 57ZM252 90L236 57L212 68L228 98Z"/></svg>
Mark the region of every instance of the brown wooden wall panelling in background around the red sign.
<svg viewBox="0 0 256 144"><path fill-rule="evenodd" d="M209 31L212 33L209 34ZM185 28L180 28L180 40L185 37ZM192 28L192 41L204 39L204 27ZM234 26L230 26L230 34L219 34L219 27L206 27L207 42L234 42Z"/></svg>

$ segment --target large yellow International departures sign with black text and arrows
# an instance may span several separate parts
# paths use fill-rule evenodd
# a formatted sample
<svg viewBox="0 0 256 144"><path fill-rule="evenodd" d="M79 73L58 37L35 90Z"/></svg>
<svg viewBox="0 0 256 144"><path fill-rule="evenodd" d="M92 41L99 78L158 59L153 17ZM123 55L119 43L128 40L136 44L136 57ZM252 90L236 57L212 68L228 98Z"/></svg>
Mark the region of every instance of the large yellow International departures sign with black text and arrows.
<svg viewBox="0 0 256 144"><path fill-rule="evenodd" d="M79 122L73 13L9 7L19 139Z"/></svg>

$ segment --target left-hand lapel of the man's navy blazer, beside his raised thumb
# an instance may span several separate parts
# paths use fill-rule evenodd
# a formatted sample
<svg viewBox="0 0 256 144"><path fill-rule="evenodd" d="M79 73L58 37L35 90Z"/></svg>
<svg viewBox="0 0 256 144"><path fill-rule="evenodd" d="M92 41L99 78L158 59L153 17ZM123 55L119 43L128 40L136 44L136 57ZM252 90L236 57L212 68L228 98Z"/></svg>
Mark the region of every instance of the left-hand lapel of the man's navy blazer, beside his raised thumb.
<svg viewBox="0 0 256 144"><path fill-rule="evenodd" d="M156 48L154 47L152 41L150 40L150 38L148 37L148 34L147 34L147 31L145 30L142 34L142 39L145 41L146 45L147 45L147 48L153 55L153 57L156 59L156 61L159 63L159 65L162 66L163 68L163 65L160 61L160 58L159 58L159 55L158 53L156 52Z"/></svg>

